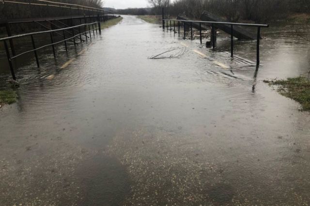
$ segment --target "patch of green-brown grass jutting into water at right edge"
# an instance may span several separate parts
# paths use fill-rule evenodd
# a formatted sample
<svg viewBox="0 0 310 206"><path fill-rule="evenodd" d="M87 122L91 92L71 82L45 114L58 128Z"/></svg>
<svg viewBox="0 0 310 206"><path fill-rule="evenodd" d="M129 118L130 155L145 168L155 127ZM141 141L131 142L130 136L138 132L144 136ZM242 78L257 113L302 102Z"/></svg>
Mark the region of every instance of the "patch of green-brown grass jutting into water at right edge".
<svg viewBox="0 0 310 206"><path fill-rule="evenodd" d="M281 95L299 102L302 110L310 111L310 79L295 77L286 80L264 80L264 82L278 86L278 92Z"/></svg>

